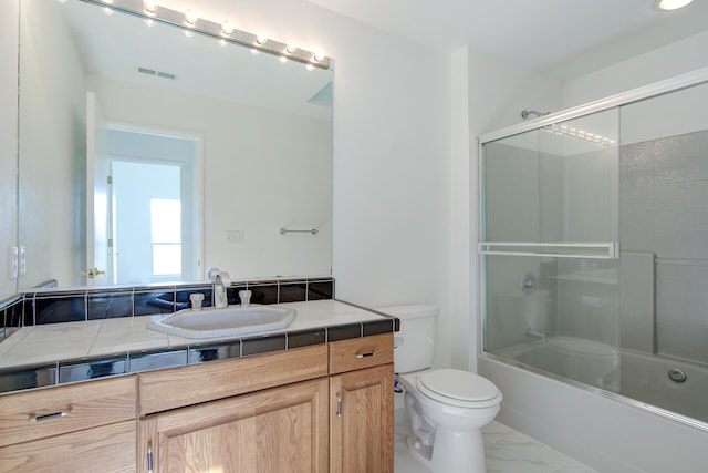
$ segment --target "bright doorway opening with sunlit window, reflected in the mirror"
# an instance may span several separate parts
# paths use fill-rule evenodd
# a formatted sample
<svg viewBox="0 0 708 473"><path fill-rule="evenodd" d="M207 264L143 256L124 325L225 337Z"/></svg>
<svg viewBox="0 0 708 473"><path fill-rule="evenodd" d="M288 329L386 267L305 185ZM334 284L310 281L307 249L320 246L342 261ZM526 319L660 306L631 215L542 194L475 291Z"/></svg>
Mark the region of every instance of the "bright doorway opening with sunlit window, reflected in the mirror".
<svg viewBox="0 0 708 473"><path fill-rule="evenodd" d="M108 130L108 282L198 278L198 150L194 138Z"/></svg>

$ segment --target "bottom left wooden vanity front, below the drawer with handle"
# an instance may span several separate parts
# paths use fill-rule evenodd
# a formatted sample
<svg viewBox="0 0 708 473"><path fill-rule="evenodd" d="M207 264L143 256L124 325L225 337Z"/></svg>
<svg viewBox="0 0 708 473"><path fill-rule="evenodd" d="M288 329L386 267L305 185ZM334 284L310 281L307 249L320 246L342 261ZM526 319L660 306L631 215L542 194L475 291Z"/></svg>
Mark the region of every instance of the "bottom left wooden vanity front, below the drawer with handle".
<svg viewBox="0 0 708 473"><path fill-rule="evenodd" d="M135 420L0 448L0 472L134 472Z"/></svg>

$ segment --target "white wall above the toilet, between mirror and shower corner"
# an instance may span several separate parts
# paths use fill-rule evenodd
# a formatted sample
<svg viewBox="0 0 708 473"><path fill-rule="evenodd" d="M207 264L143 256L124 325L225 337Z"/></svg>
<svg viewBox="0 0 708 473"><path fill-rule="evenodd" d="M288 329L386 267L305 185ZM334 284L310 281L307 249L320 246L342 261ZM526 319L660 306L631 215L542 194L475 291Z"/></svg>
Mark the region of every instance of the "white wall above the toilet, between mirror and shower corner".
<svg viewBox="0 0 708 473"><path fill-rule="evenodd" d="M449 58L357 30L334 54L336 295L434 304L449 337ZM449 346L438 348L448 364Z"/></svg>

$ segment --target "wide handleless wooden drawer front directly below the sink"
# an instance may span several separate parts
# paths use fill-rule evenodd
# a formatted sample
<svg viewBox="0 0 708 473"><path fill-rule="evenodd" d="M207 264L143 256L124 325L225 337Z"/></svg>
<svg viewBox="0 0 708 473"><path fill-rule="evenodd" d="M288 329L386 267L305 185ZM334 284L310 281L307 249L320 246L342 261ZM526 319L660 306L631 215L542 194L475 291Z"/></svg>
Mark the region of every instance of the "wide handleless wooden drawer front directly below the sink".
<svg viewBox="0 0 708 473"><path fill-rule="evenodd" d="M139 374L140 415L327 374L327 347L212 361Z"/></svg>

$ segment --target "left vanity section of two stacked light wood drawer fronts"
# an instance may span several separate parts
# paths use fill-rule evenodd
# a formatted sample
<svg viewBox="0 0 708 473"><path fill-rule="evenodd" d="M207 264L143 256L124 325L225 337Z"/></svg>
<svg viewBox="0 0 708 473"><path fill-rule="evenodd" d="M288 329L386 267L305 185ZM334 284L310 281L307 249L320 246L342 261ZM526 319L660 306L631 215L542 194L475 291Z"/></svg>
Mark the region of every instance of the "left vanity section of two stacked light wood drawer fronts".
<svg viewBox="0 0 708 473"><path fill-rule="evenodd" d="M0 397L0 471L135 471L136 377Z"/></svg>

